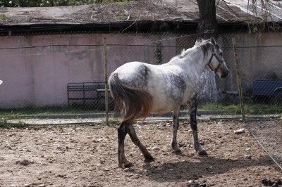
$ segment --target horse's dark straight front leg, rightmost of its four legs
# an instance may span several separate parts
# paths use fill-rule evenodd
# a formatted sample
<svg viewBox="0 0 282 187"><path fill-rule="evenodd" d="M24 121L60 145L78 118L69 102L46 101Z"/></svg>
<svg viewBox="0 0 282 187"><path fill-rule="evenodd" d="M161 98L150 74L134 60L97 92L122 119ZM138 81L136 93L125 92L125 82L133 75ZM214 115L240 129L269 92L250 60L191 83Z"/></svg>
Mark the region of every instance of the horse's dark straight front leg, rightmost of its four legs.
<svg viewBox="0 0 282 187"><path fill-rule="evenodd" d="M207 155L207 152L200 145L197 131L197 99L192 99L188 107L190 108L190 127L192 129L194 148L199 155Z"/></svg>

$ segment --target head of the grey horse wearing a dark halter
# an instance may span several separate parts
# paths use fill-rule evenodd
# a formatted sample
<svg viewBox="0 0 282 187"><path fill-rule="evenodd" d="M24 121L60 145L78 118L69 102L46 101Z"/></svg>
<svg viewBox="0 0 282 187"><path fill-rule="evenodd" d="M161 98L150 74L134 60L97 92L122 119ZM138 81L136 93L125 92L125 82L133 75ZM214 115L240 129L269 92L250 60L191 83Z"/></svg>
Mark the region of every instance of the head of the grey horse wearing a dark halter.
<svg viewBox="0 0 282 187"><path fill-rule="evenodd" d="M202 39L198 39L196 41L196 44L202 42L204 42L202 41ZM208 66L214 73L219 75L219 77L221 78L227 77L229 70L223 58L223 52L219 48L219 44L216 44L216 40L213 37L211 37L211 39L207 40L206 42L207 43L204 44L205 49L207 51L212 52L212 53L208 53L207 55L206 66Z"/></svg>

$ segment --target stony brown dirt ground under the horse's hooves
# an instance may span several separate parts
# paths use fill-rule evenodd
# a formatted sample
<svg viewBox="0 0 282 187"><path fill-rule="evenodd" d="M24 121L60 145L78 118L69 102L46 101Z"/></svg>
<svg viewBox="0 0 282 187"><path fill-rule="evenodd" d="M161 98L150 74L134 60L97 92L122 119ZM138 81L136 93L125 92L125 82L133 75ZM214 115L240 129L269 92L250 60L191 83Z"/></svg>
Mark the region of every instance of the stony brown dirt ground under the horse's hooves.
<svg viewBox="0 0 282 187"><path fill-rule="evenodd" d="M144 162L127 136L125 155L134 164L130 169L118 168L116 128L3 128L0 186L282 186L281 169L240 122L199 122L200 141L209 154L203 157L192 148L188 124L180 124L183 153L176 155L170 151L170 123L139 122L137 135L155 161ZM234 133L242 128L244 134Z"/></svg>

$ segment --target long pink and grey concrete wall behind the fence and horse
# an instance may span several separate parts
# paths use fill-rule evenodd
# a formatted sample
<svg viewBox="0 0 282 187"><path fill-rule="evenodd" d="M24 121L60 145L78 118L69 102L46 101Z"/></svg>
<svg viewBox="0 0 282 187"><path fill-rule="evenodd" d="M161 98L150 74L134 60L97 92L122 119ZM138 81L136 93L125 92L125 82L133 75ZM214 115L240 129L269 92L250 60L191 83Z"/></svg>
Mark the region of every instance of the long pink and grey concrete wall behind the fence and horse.
<svg viewBox="0 0 282 187"><path fill-rule="evenodd" d="M250 89L252 81L258 78L265 79L275 74L282 79L281 47L240 48L281 45L281 33L236 36L240 74L245 90ZM63 106L67 105L68 83L104 82L104 38L108 44L110 75L117 67L130 61L157 63L156 42L164 46L161 49L163 63L180 53L183 46L195 44L195 37L174 37L170 34L0 37L0 79L4 81L0 86L0 108ZM221 34L218 42L225 46L224 57L231 73L226 79L216 76L217 89L237 91L231 34Z"/></svg>

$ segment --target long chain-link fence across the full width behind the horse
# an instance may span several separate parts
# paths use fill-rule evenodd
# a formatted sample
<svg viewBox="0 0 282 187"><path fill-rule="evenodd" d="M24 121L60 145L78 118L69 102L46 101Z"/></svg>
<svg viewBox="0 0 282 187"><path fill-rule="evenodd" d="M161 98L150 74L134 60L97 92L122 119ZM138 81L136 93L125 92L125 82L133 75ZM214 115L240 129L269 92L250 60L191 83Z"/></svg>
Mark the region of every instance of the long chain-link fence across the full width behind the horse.
<svg viewBox="0 0 282 187"><path fill-rule="evenodd" d="M197 34L171 33L37 33L1 37L0 115L104 115L105 72L109 77L117 67L131 61L166 63L183 49L194 46L197 38ZM246 114L279 114L281 34L236 34L235 39L239 73L232 34L219 34L218 43L230 74L221 79L210 70L205 72L200 112L239 115L240 79ZM109 94L109 111L113 110Z"/></svg>

